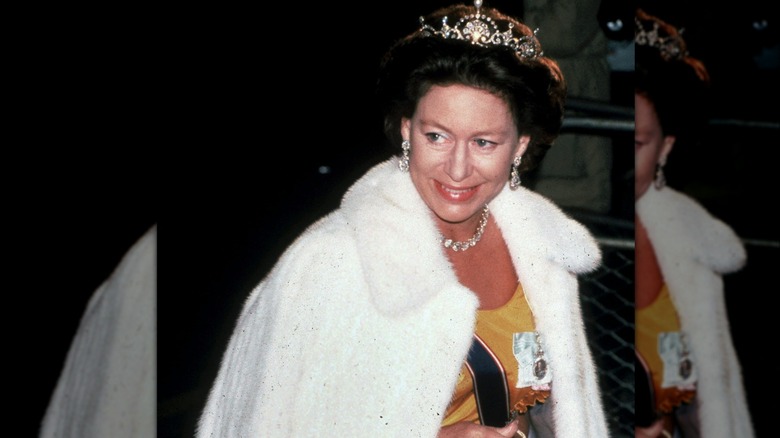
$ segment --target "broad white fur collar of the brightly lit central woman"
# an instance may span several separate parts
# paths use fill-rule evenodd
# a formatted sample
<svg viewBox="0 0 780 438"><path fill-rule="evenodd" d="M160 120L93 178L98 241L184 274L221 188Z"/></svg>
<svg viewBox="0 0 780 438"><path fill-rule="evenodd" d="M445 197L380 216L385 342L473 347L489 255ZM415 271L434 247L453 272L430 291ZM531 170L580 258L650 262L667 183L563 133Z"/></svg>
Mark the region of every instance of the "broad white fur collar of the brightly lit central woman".
<svg viewBox="0 0 780 438"><path fill-rule="evenodd" d="M490 208L515 266L542 257L581 273L600 263L584 227L541 195L505 188ZM443 288L463 288L438 243L430 210L397 159L378 164L350 187L341 210L362 245L365 278L380 310L402 314Z"/></svg>

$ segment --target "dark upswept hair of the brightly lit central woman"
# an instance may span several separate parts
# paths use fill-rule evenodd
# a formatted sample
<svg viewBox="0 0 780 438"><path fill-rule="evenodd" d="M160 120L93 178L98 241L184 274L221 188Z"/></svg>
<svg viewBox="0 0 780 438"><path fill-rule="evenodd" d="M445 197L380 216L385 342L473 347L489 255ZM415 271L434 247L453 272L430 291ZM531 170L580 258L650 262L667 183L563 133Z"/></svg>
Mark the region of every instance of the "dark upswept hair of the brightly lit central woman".
<svg viewBox="0 0 780 438"><path fill-rule="evenodd" d="M476 13L473 6L453 5L424 17L424 23L439 29L444 17L452 26ZM489 7L481 7L479 14L490 17L500 31L511 25L514 36L529 36L538 44L533 31L519 20ZM530 136L521 172L536 167L560 133L566 82L554 60L418 30L396 42L380 64L376 92L390 145L400 147L401 119L412 117L431 87L453 84L488 91L508 104L520 135Z"/></svg>

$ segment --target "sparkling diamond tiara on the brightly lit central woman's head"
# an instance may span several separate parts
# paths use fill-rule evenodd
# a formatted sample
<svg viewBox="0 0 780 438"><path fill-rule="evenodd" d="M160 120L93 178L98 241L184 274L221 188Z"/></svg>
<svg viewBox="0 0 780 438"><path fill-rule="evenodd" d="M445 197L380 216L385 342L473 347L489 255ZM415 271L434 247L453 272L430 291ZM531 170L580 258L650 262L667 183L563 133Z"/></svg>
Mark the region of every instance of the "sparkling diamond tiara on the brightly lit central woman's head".
<svg viewBox="0 0 780 438"><path fill-rule="evenodd" d="M447 17L441 20L441 28L436 29L430 24L425 23L425 19L420 17L420 32L425 36L438 36L444 39L456 39L469 41L471 44L487 47L506 46L511 48L521 58L533 60L543 56L542 46L536 39L536 32L533 35L515 36L512 33L514 25L509 23L509 28L503 32L498 30L498 25L492 18L480 14L479 8L482 6L482 0L474 0L474 6L477 8L476 14L469 14L458 20L454 26L447 23Z"/></svg>

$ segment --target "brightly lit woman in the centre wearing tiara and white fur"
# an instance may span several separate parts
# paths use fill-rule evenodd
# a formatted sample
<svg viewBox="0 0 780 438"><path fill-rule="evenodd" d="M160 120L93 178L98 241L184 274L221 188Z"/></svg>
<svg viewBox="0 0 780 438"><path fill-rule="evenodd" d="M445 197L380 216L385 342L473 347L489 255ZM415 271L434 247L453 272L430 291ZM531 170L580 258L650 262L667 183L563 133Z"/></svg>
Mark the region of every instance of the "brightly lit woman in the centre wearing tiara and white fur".
<svg viewBox="0 0 780 438"><path fill-rule="evenodd" d="M521 187L561 126L557 64L453 6L390 49L378 97L400 156L252 291L198 436L608 436L577 281L599 248Z"/></svg>

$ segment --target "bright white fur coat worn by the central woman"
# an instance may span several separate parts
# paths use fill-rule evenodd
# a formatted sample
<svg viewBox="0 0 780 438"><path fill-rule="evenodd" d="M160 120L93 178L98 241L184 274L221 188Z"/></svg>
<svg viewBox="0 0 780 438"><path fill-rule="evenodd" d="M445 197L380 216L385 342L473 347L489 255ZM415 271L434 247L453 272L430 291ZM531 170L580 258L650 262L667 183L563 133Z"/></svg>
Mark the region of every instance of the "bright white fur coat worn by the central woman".
<svg viewBox="0 0 780 438"><path fill-rule="evenodd" d="M490 207L545 339L556 434L607 437L576 276L595 240L525 189ZM251 292L197 436L435 437L478 306L437 237L396 161L370 170Z"/></svg>

